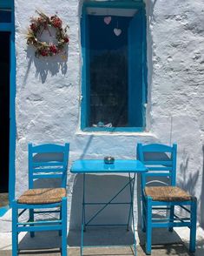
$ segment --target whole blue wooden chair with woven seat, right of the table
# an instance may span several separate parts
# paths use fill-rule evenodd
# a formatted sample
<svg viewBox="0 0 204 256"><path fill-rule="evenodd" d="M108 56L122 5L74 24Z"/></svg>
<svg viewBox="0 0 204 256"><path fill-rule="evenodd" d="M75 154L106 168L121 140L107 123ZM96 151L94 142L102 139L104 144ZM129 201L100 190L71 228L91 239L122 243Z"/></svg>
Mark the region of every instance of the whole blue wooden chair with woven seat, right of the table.
<svg viewBox="0 0 204 256"><path fill-rule="evenodd" d="M141 176L142 230L146 232L146 254L151 254L154 227L168 227L168 230L173 232L174 226L188 226L189 250L192 253L195 251L197 200L175 185L176 151L177 145L137 145L137 158L148 167L148 172L142 173ZM162 185L156 184L158 182ZM181 218L175 214L175 206L181 207L181 210L188 212L190 216ZM168 218L161 219L156 216L157 218L154 219L153 210L167 211Z"/></svg>

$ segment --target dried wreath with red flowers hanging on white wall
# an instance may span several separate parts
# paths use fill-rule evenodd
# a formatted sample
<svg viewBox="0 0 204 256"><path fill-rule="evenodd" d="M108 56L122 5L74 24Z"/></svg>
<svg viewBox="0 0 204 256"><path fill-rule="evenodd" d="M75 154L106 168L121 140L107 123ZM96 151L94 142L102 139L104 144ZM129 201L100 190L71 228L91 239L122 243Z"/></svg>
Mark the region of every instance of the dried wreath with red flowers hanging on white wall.
<svg viewBox="0 0 204 256"><path fill-rule="evenodd" d="M36 57L53 56L62 52L66 44L69 43L69 36L67 34L69 26L63 29L63 21L57 15L48 17L43 12L37 10L36 12L39 17L30 19L31 24L27 34L27 44L33 45L36 48ZM57 44L49 44L38 39L42 35L43 30L49 31L50 27L56 29Z"/></svg>

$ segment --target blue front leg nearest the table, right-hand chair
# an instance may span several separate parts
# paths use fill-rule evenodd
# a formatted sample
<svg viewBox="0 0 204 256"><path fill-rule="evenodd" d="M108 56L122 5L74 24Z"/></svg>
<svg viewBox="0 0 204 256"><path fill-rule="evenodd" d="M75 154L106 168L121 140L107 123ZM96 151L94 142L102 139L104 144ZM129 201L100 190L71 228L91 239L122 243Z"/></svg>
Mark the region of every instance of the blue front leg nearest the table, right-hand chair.
<svg viewBox="0 0 204 256"><path fill-rule="evenodd" d="M147 198L147 212L146 212L146 254L151 254L152 247L152 198Z"/></svg>

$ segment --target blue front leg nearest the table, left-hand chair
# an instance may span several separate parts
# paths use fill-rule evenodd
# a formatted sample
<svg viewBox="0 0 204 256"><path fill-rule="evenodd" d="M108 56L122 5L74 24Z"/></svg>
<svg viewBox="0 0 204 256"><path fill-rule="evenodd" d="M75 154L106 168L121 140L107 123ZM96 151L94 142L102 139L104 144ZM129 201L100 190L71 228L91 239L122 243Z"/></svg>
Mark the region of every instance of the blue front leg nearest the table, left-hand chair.
<svg viewBox="0 0 204 256"><path fill-rule="evenodd" d="M67 198L62 201L62 256L67 256Z"/></svg>

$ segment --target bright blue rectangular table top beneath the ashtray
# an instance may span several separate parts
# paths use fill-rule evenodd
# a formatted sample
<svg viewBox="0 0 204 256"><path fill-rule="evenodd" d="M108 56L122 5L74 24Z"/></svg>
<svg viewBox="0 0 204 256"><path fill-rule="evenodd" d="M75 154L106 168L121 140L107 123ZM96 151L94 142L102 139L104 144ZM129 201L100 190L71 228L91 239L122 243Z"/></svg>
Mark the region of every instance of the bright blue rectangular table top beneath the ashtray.
<svg viewBox="0 0 204 256"><path fill-rule="evenodd" d="M105 164L103 159L81 159L72 165L72 173L101 173L101 172L147 172L145 165L139 160L115 159L114 164Z"/></svg>

